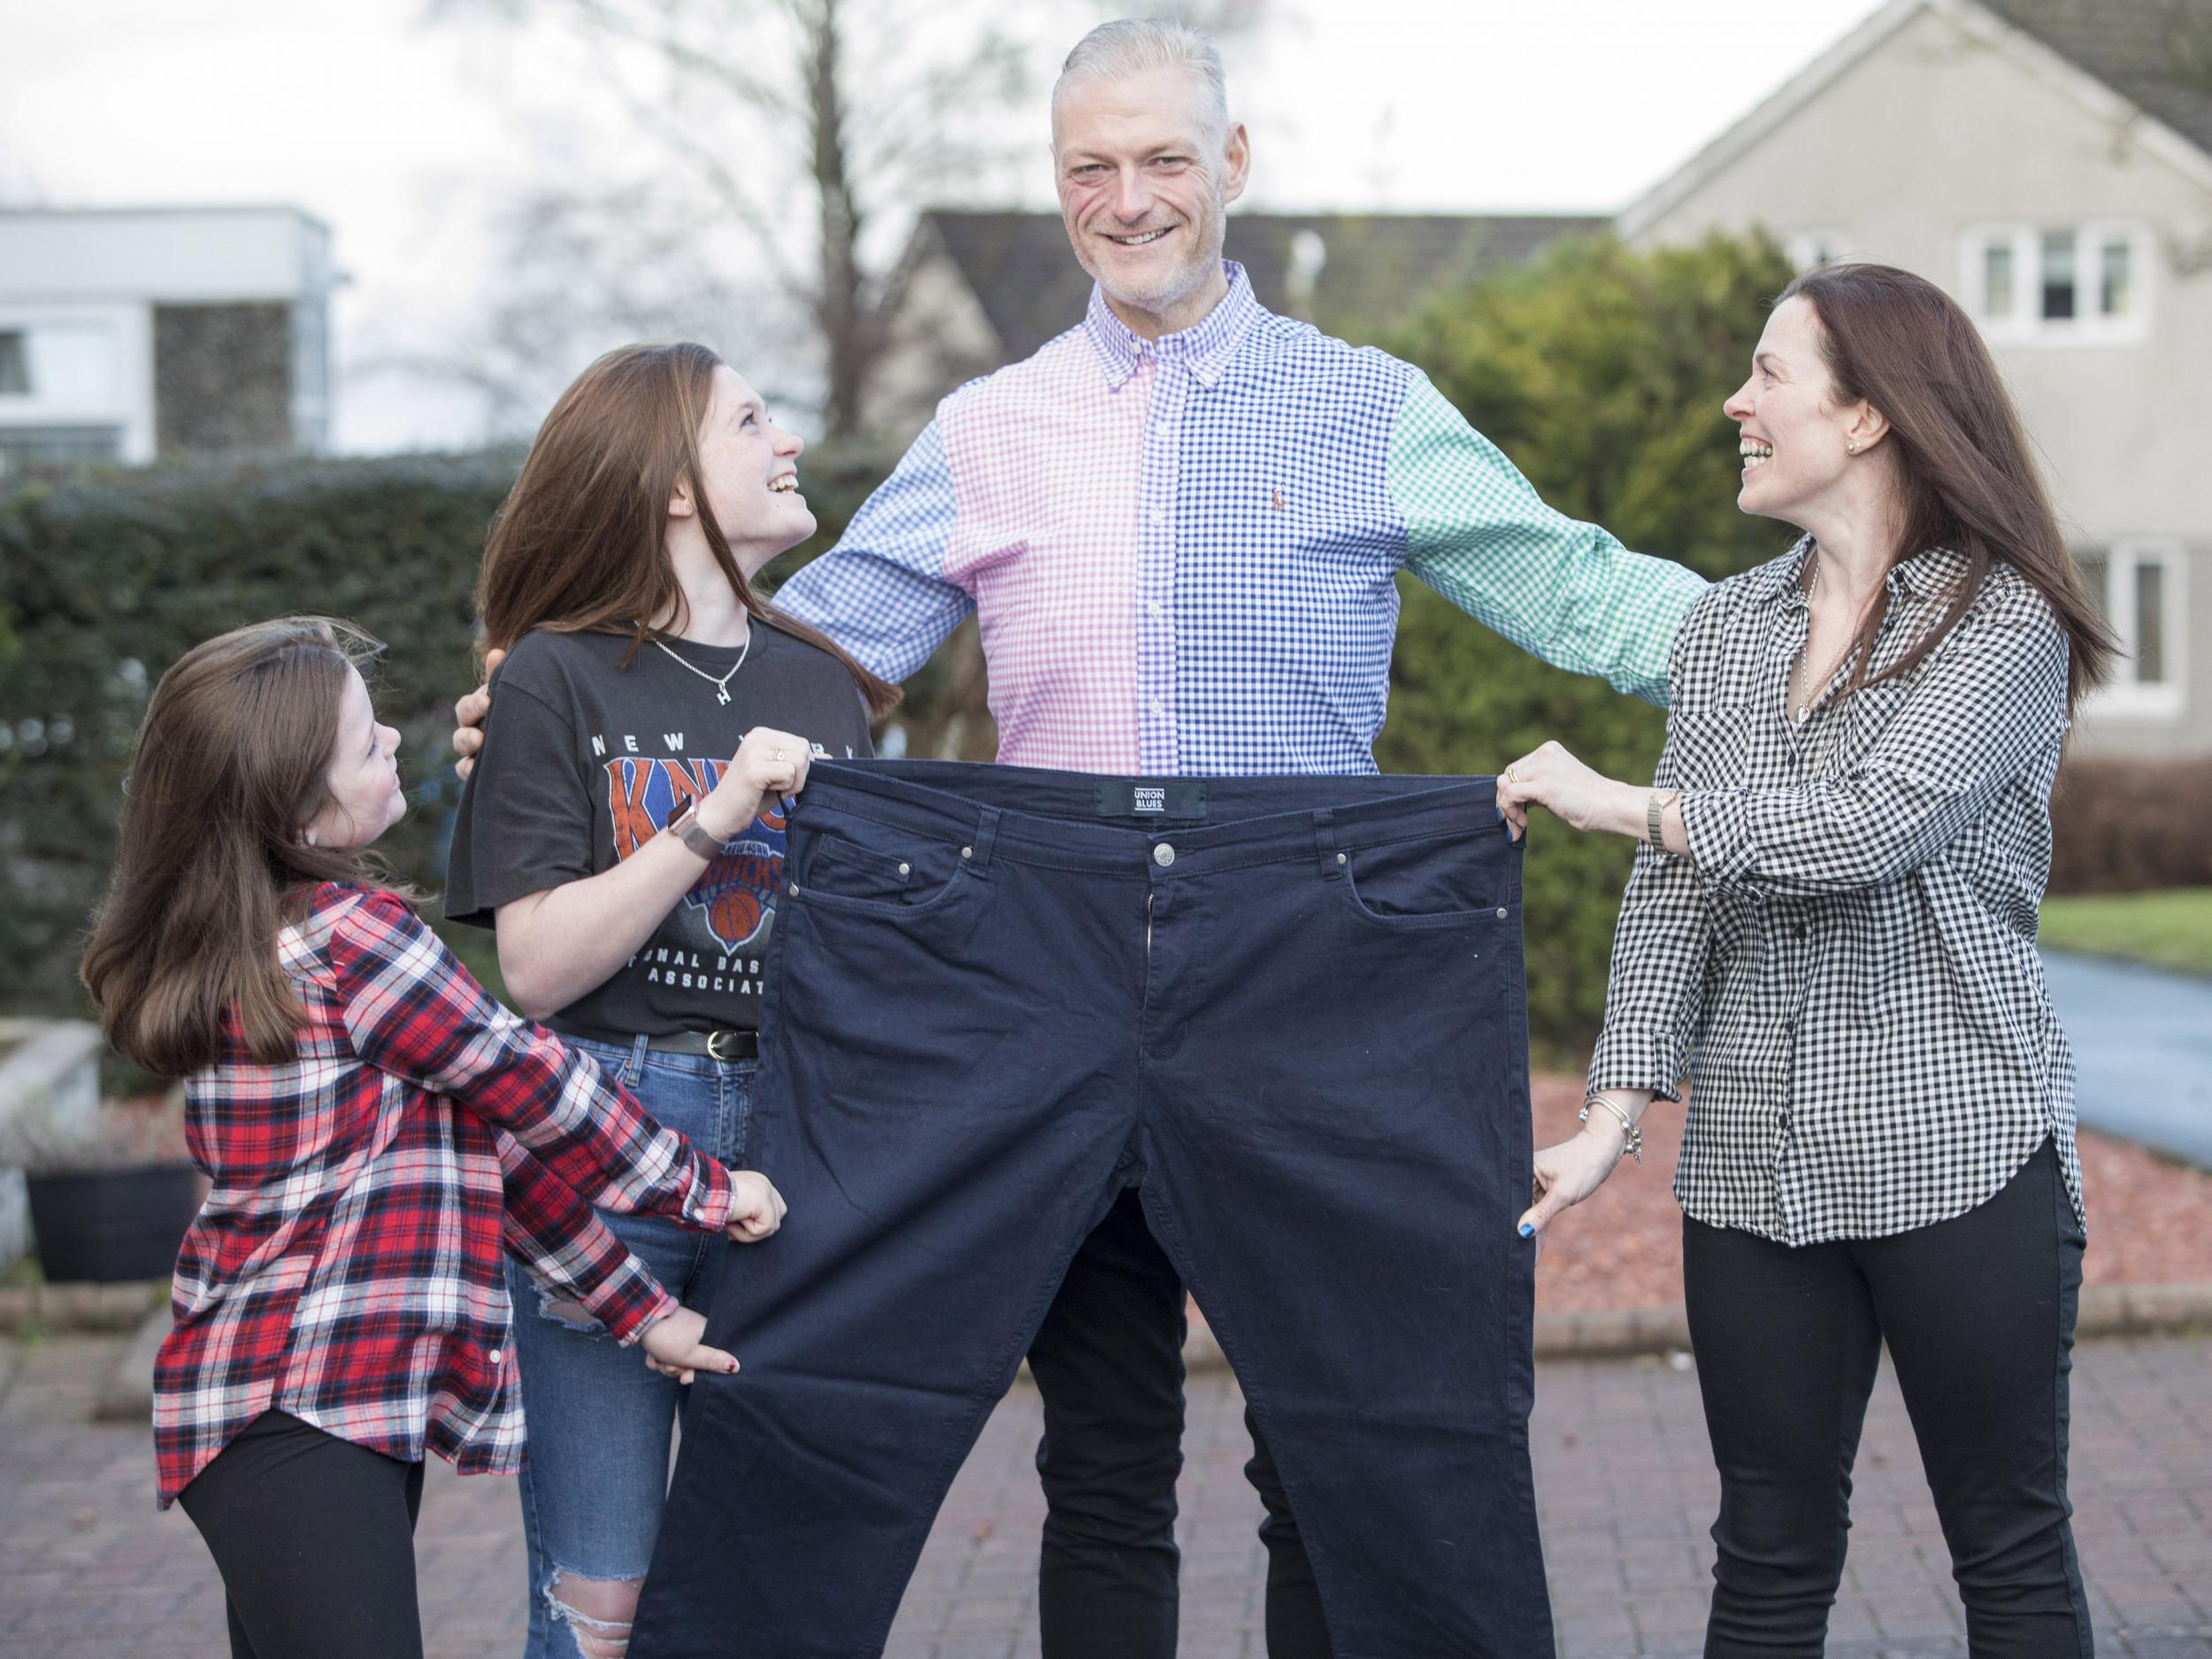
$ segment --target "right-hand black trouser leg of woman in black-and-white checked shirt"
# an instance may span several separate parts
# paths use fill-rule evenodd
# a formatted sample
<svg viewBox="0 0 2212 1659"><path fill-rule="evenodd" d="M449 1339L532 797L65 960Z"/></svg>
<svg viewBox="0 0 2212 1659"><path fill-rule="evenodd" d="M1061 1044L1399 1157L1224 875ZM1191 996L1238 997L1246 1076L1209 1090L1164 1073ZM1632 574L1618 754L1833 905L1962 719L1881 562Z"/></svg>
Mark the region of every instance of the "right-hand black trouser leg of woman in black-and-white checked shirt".
<svg viewBox="0 0 2212 1659"><path fill-rule="evenodd" d="M1975 1655L2090 1659L2066 1500L2081 1243L2046 1141L1966 1214L1858 1248Z"/></svg>

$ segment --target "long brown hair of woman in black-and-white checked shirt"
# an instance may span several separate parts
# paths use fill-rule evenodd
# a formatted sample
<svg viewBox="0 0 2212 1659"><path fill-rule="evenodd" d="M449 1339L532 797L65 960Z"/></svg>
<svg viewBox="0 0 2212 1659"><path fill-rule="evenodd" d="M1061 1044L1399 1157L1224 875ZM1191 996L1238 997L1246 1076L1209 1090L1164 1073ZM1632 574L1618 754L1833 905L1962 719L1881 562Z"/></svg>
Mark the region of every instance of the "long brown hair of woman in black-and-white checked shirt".
<svg viewBox="0 0 2212 1659"><path fill-rule="evenodd" d="M1836 400L1865 398L1889 420L1905 495L1893 560L1933 546L1966 560L1936 626L1874 679L1911 670L1966 615L1991 566L2011 564L2066 630L2066 706L2073 710L2081 692L2104 679L2112 630L2066 551L2028 434L1980 330L1936 283L1896 265L1820 265L1790 283L1781 299L1803 299L1820 319L1820 356L1836 380ZM1882 604L1874 604L1854 641L1854 690L1867 684L1867 657L1880 626Z"/></svg>

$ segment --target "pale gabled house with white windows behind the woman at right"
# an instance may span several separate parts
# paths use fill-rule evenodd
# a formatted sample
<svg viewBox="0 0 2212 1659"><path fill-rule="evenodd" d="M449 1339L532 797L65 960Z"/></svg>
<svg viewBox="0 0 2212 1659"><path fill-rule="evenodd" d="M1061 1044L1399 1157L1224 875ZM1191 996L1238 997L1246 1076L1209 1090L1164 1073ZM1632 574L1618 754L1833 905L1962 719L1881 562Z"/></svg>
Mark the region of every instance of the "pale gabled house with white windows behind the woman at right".
<svg viewBox="0 0 2212 1659"><path fill-rule="evenodd" d="M2088 752L2212 750L2212 0L1893 0L1632 204L1944 285L2128 661Z"/></svg>

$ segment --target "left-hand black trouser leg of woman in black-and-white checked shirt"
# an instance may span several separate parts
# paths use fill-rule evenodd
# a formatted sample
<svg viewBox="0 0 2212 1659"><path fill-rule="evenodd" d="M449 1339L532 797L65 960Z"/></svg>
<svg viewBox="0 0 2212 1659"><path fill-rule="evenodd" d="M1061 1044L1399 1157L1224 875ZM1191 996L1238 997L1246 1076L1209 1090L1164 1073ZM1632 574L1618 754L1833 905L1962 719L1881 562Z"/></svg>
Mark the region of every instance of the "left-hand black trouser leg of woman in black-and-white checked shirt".
<svg viewBox="0 0 2212 1659"><path fill-rule="evenodd" d="M1820 1659L1851 1526L1851 1460L1882 1356L1847 1245L1683 1217L1681 1281L1721 1473L1705 1659Z"/></svg>

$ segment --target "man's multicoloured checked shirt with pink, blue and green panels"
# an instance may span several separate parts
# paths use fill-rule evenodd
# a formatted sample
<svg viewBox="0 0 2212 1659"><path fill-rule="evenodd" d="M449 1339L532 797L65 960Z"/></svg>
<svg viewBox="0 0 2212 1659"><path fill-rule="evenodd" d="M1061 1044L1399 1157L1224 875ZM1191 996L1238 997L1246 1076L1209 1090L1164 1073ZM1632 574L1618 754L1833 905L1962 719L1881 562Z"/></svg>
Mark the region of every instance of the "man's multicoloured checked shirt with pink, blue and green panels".
<svg viewBox="0 0 2212 1659"><path fill-rule="evenodd" d="M1267 312L1243 270L1144 341L1084 323L938 405L776 602L887 679L975 611L1000 757L1374 772L1400 568L1652 701L1705 591L1551 511L1427 376Z"/></svg>

